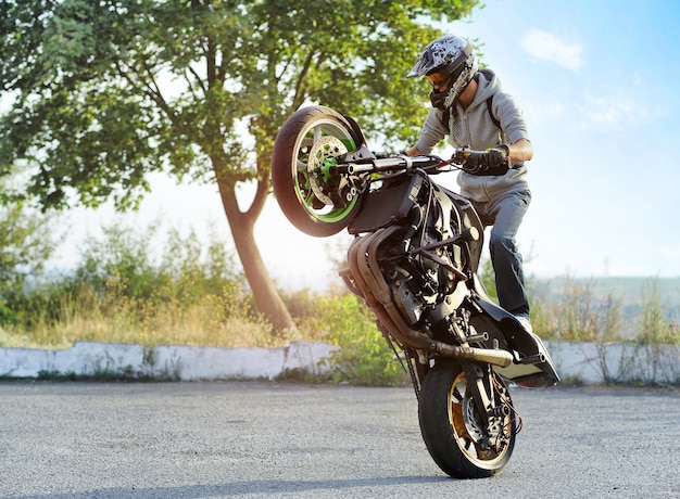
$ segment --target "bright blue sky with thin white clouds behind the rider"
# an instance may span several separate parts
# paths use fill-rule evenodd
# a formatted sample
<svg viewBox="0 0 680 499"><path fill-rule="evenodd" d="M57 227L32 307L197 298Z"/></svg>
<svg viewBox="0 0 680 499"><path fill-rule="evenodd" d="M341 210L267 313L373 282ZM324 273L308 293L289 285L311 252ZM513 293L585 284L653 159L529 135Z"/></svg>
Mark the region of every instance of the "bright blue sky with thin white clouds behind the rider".
<svg viewBox="0 0 680 499"><path fill-rule="evenodd" d="M676 0L487 0L470 18L445 25L483 43L484 63L529 125L533 199L518 235L527 273L680 276L678 26ZM455 174L442 177L455 188ZM153 192L137 220L197 230L213 221L230 241L214 188L158 177ZM110 217L74 213L62 263L75 258L78 234ZM256 240L280 284L323 289L335 274L329 248L350 238L305 236L270 200Z"/></svg>

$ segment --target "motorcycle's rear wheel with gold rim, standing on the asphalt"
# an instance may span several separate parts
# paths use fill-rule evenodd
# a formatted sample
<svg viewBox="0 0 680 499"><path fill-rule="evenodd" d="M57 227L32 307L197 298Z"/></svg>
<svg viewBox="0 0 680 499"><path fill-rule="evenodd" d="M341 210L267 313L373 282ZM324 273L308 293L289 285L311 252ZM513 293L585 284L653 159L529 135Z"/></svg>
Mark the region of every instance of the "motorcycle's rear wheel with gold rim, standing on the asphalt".
<svg viewBox="0 0 680 499"><path fill-rule="evenodd" d="M474 400L471 382L461 366L440 361L423 381L418 418L423 439L439 468L456 478L499 473L513 453L517 422L507 387L491 373L490 424ZM490 382L490 383L489 383ZM502 411L498 408L504 408Z"/></svg>

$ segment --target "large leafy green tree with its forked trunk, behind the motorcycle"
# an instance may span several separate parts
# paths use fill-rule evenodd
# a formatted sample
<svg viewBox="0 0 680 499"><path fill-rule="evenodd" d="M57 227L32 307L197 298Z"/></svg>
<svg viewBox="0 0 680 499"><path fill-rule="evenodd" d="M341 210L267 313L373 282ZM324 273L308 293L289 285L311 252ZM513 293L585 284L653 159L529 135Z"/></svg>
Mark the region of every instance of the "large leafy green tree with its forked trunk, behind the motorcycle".
<svg viewBox="0 0 680 499"><path fill-rule="evenodd" d="M259 308L293 325L253 238L278 127L315 102L412 141L426 107L404 75L477 0L3 0L0 172L42 207L134 208L146 175L217 184ZM424 93L423 89L418 93ZM237 185L255 182L244 209Z"/></svg>

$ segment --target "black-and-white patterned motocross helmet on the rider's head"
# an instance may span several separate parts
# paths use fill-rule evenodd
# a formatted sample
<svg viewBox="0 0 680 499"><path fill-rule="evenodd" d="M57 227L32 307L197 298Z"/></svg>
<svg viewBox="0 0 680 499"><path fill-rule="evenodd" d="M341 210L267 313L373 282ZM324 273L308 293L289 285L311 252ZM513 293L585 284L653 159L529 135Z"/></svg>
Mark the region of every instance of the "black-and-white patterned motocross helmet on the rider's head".
<svg viewBox="0 0 680 499"><path fill-rule="evenodd" d="M441 74L449 85L443 90L433 89L430 101L435 107L446 110L463 93L477 73L477 56L473 46L450 35L430 42L407 77Z"/></svg>

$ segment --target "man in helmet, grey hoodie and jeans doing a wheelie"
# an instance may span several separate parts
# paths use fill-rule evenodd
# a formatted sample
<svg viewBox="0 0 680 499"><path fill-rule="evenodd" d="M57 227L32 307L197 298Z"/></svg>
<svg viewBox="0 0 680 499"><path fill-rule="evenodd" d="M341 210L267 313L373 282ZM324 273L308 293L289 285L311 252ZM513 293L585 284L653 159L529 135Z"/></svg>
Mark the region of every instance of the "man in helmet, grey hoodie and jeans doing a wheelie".
<svg viewBox="0 0 680 499"><path fill-rule="evenodd" d="M407 75L425 76L432 107L410 156L429 154L444 138L454 148L487 151L483 161L458 174L489 239L500 305L531 332L522 258L515 238L531 201L525 162L533 157L521 111L490 69L479 69L471 44L456 36L430 42Z"/></svg>

